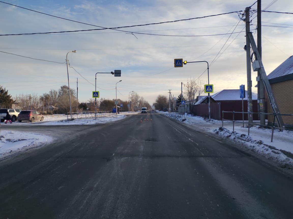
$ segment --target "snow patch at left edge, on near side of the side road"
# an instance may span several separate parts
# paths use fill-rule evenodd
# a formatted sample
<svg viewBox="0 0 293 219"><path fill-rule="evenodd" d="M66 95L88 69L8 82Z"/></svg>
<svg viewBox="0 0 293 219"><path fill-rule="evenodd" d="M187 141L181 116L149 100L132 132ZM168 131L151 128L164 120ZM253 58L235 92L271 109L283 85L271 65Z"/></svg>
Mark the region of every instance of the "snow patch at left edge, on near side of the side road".
<svg viewBox="0 0 293 219"><path fill-rule="evenodd" d="M16 152L24 151L32 147L37 147L51 141L52 138L47 135L1 130L0 159Z"/></svg>

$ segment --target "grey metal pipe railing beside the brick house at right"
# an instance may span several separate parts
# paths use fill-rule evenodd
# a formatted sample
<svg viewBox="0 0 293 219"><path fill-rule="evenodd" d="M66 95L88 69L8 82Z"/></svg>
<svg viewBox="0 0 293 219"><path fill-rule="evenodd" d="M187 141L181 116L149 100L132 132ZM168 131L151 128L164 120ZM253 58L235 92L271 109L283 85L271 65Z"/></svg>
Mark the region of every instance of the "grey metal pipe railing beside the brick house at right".
<svg viewBox="0 0 293 219"><path fill-rule="evenodd" d="M233 120L230 119L224 119L224 113L233 113ZM272 135L271 135L271 142L273 142L273 136L274 136L274 130L277 128L279 129L279 131L283 131L283 130L289 130L292 131L292 129L289 128L285 128L285 127L277 127L275 126L275 119L276 116L293 116L293 114L282 114L282 113L264 113L264 112L235 112L235 111L222 111L222 127L224 127L224 120L225 121L232 121L233 122L233 131L234 131L234 123L235 122L241 122L243 123L243 127L244 127L244 118L242 121L238 121L235 120L235 113L241 113L241 114L247 114L247 127L248 127L248 135L250 133L250 127L253 125L257 125L257 126L262 126L262 127L268 127L272 129ZM264 114L264 115L272 115L273 116L273 122L271 126L268 125L261 125L255 122L250 122L250 119L248 119L251 115L253 114Z"/></svg>

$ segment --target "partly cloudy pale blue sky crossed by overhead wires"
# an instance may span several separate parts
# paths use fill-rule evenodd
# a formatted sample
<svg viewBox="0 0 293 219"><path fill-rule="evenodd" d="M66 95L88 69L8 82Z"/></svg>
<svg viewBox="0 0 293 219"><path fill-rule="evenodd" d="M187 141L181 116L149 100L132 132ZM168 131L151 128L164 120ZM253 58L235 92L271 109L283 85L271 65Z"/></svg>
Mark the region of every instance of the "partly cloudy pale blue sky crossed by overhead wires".
<svg viewBox="0 0 293 219"><path fill-rule="evenodd" d="M8 3L48 13L51 15L85 22L101 27L121 27L164 21L173 21L245 10L254 1L57 1L57 0L5 0ZM262 8L272 0L263 0ZM256 4L252 7L256 8ZM293 1L278 0L267 10L293 12ZM253 15L251 18L254 18ZM267 74L293 55L293 15L262 13L262 21L291 25L290 28L262 26L263 64ZM0 34L58 32L98 27L80 24L35 13L15 6L0 3ZM256 18L251 29L255 29ZM165 35L210 35L231 33L239 22L237 13L209 18L178 21L172 23L121 28L119 30L165 34ZM245 23L240 20L234 32L240 32ZM263 23L262 25L274 25ZM280 25L277 25L280 26ZM245 30L245 29L244 29ZM254 33L255 30L252 30ZM171 89L175 97L180 94L181 82L198 78L207 68L206 63L188 63L174 68L174 58L187 61L208 61L210 84L214 93L223 89L239 89L247 85L245 32L218 36L154 36L126 34L105 29L64 34L0 36L0 51L37 59L65 62L69 53L70 88L76 89L78 97L87 102L95 90L95 73L121 70L121 77L112 74L97 74L97 91L100 98L127 100L129 92L136 91L151 105L159 94L167 95ZM256 41L257 33L254 34ZM228 39L229 38L229 39ZM226 44L225 44L226 42ZM231 44L230 44L231 43ZM225 44L225 45L224 45ZM224 47L223 47L224 46ZM227 47L228 46L228 47ZM222 48L223 47L223 48ZM220 49L221 52L219 53ZM224 51L224 52L223 52ZM219 53L218 56L216 56ZM212 61L215 62L211 65ZM0 53L0 85L6 87L12 96L38 94L58 89L67 84L66 64L45 62ZM252 84L257 72L251 72ZM200 77L207 82L207 72ZM247 87L247 86L246 86ZM184 90L184 88L183 88ZM257 92L253 86L253 92Z"/></svg>

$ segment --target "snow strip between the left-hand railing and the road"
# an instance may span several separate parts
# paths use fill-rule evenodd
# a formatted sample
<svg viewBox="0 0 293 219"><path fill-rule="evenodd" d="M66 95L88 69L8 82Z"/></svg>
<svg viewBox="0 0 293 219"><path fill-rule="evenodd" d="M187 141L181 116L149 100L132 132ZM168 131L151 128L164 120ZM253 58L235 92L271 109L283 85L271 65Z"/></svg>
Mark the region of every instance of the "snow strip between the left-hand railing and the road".
<svg viewBox="0 0 293 219"><path fill-rule="evenodd" d="M125 118L125 114L120 115L110 115L109 117L97 117L95 119L94 117L86 118L86 119L74 119L74 120L59 120L59 121L49 121L44 123L39 123L38 125L45 125L45 126L58 126L58 125L92 125L92 124L98 124L98 123L107 123L111 121L118 121L120 119Z"/></svg>

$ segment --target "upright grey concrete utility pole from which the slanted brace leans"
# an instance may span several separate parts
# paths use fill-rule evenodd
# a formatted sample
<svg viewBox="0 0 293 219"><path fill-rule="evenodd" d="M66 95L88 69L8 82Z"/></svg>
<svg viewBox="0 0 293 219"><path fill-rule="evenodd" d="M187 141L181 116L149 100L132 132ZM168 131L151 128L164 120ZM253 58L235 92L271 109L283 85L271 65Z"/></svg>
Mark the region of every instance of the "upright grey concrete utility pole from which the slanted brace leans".
<svg viewBox="0 0 293 219"><path fill-rule="evenodd" d="M247 70L247 112L253 112L252 109L252 92L251 92L251 59L250 59L250 41L248 33L250 32L250 20L249 20L249 10L250 8L245 8L245 22L246 22L246 70ZM248 124L252 126L253 114L248 117Z"/></svg>

